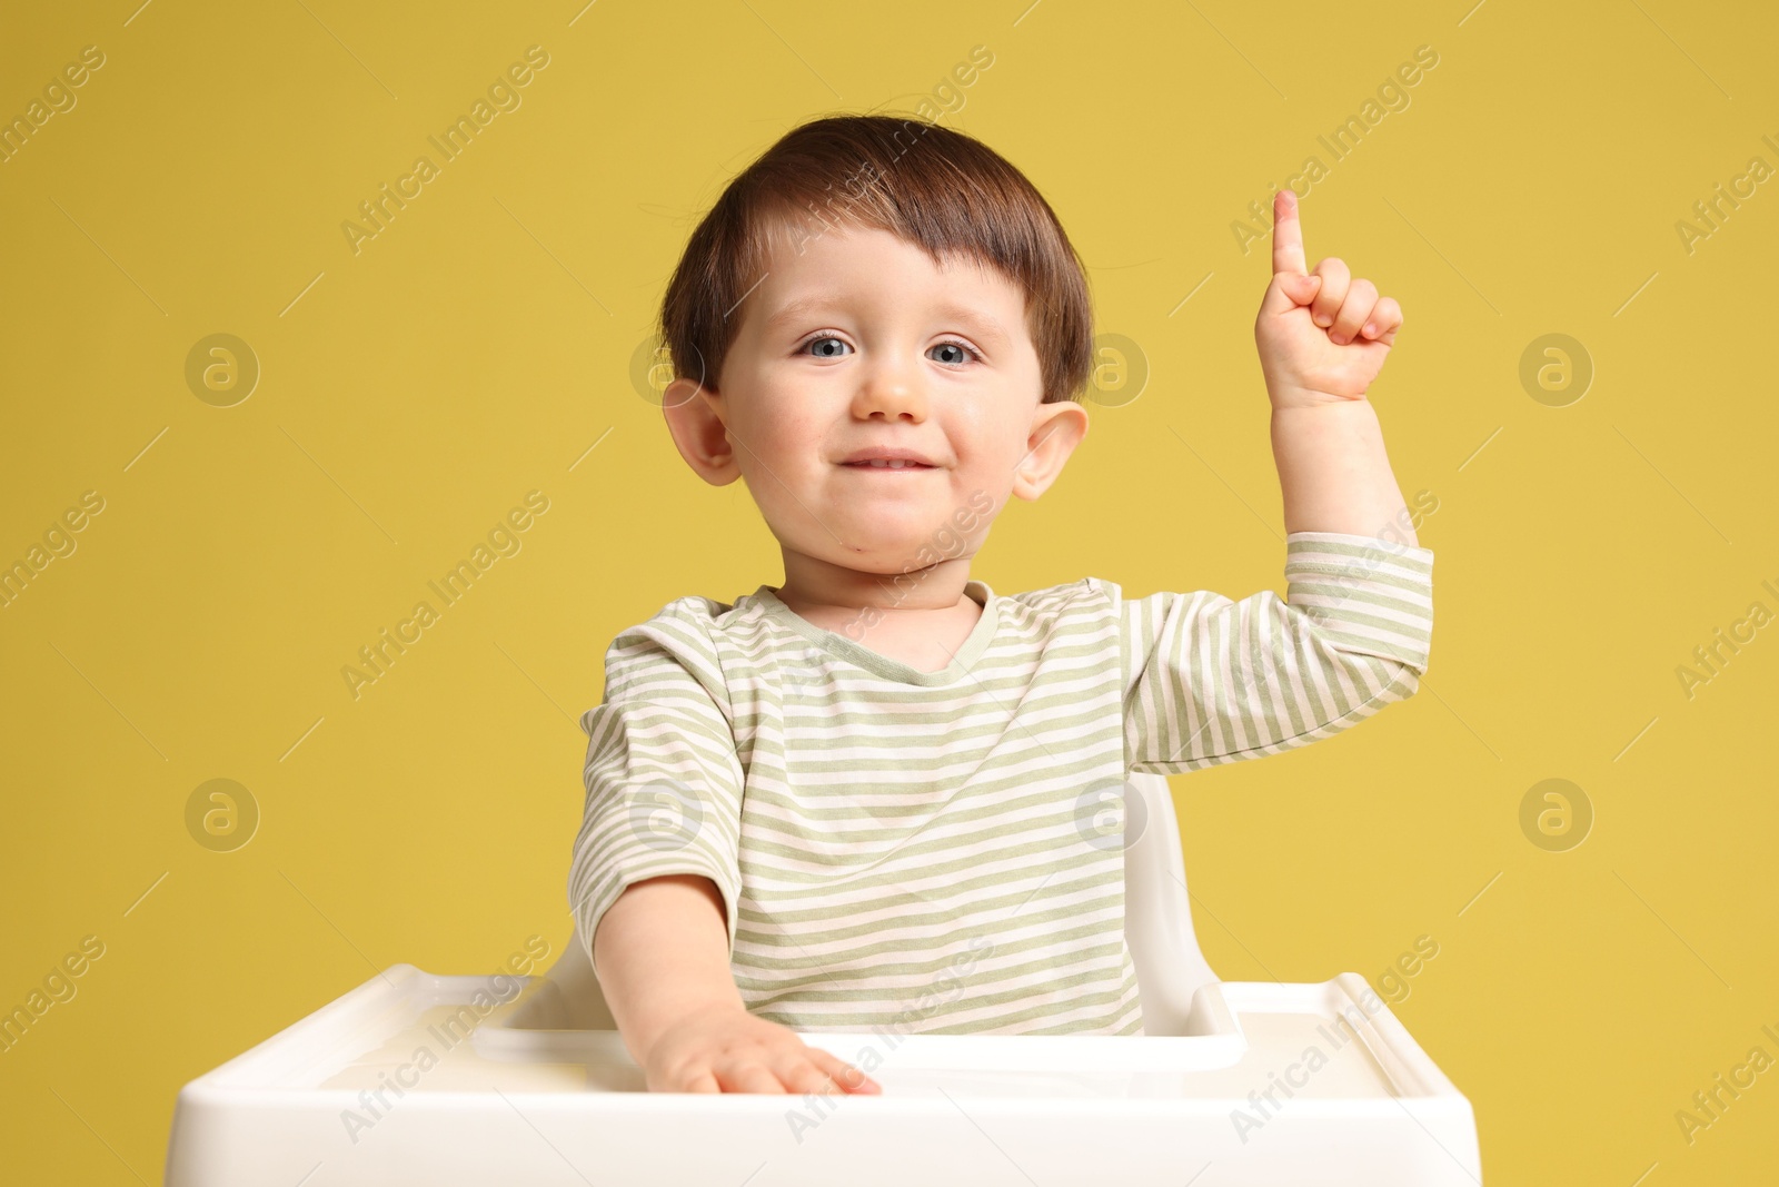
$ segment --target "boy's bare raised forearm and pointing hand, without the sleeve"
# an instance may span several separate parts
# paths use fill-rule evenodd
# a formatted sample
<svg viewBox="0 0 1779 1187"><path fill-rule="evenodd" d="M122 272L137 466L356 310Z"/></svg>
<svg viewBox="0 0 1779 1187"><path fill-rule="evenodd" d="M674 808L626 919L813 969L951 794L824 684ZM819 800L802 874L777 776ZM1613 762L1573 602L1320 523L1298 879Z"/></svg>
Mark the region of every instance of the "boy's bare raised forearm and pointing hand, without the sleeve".
<svg viewBox="0 0 1779 1187"><path fill-rule="evenodd" d="M1364 399L1402 326L1402 308L1338 258L1304 272L1297 196L1274 198L1272 283L1254 322L1272 400L1286 532L1381 536L1416 546L1389 472L1377 409Z"/></svg>

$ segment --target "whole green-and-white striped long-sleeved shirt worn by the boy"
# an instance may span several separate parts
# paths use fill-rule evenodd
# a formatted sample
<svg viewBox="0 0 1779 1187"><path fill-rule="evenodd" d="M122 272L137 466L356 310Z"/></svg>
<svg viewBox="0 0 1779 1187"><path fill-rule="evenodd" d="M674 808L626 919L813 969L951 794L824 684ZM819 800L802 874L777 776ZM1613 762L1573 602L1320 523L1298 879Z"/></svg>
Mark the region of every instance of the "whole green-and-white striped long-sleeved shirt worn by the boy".
<svg viewBox="0 0 1779 1187"><path fill-rule="evenodd" d="M1124 778L1331 737L1413 696L1432 552L1292 532L1286 598L984 582L923 673L761 585L619 634L585 730L582 943L630 883L722 892L747 1009L799 1030L1142 1034ZM591 952L589 952L591 957Z"/></svg>

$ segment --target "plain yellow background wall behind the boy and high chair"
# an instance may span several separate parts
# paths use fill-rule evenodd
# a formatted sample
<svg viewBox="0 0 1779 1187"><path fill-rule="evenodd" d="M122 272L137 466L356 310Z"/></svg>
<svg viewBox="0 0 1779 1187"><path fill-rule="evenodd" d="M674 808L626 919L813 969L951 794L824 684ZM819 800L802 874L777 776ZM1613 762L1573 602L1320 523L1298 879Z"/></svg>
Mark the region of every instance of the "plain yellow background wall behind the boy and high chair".
<svg viewBox="0 0 1779 1187"><path fill-rule="evenodd" d="M375 970L560 952L607 644L783 573L632 384L665 278L785 130L911 110L977 44L946 123L1048 196L1151 368L996 525L996 593L1283 593L1268 256L1229 224L1306 155L1311 263L1405 310L1372 399L1404 495L1439 500L1432 667L1340 739L1174 778L1211 966L1375 982L1432 936L1395 1011L1491 1182L1770 1180L1779 1071L1692 1143L1674 1118L1779 1057L1779 628L1690 699L1676 678L1779 610L1779 187L1692 253L1676 231L1779 166L1767 5L14 9L5 117L107 61L0 166L0 561L87 489L105 511L0 609L0 1005L107 947L0 1055L9 1180L158 1182L181 1084ZM340 224L530 44L523 105L354 254ZM1411 105L1331 164L1316 135L1421 44ZM233 408L185 381L213 333L262 367ZM1517 377L1548 333L1596 368L1566 408ZM530 489L523 550L352 699L342 666ZM262 812L235 852L187 833L213 778ZM1596 813L1567 852L1521 831L1546 778Z"/></svg>

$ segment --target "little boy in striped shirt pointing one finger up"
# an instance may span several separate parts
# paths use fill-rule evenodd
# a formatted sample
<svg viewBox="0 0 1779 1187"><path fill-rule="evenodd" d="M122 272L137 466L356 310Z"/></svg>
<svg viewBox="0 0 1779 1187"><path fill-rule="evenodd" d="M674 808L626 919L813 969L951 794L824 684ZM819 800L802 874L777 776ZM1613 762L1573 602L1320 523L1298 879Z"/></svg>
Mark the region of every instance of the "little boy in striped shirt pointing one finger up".
<svg viewBox="0 0 1779 1187"><path fill-rule="evenodd" d="M818 119L692 233L667 425L706 482L747 482L785 584L624 630L580 719L569 900L649 1089L881 1091L797 1030L1142 1034L1126 776L1414 694L1432 552L1364 400L1402 311L1340 260L1306 272L1292 190L1274 219L1284 602L970 577L1087 434L1092 365L1062 226L978 141Z"/></svg>

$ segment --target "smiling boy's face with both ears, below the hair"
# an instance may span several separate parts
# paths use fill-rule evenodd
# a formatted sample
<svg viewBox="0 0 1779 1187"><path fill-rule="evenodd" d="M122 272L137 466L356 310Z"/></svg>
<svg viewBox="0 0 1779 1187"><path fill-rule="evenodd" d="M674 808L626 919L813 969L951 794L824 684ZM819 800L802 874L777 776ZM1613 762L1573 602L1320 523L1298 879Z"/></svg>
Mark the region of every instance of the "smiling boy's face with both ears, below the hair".
<svg viewBox="0 0 1779 1187"><path fill-rule="evenodd" d="M719 392L680 381L664 404L681 456L745 479L786 553L870 573L973 555L1087 432L1078 404L1041 402L1018 285L888 231L836 228L801 253L781 237L735 315ZM847 464L873 447L930 466Z"/></svg>

